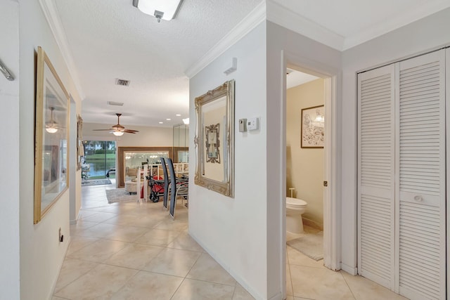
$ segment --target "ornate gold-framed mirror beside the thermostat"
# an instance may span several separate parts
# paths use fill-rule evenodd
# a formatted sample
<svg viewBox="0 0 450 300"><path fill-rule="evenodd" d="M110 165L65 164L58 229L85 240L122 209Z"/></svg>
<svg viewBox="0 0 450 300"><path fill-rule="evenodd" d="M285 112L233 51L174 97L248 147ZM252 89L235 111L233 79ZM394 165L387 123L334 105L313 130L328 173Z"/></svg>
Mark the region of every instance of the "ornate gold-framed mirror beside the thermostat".
<svg viewBox="0 0 450 300"><path fill-rule="evenodd" d="M234 80L195 98L194 183L234 197Z"/></svg>

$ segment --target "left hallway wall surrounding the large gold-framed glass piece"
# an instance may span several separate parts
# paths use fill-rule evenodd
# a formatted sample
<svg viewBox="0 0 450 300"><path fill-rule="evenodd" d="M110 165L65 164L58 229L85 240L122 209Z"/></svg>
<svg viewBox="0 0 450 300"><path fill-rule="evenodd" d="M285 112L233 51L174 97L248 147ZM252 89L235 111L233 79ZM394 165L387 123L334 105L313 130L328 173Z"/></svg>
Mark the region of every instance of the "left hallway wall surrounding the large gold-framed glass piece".
<svg viewBox="0 0 450 300"><path fill-rule="evenodd" d="M75 103L81 101L39 1L20 1L19 13L20 146L15 150L20 151L20 298L49 299L70 241L70 190L63 193L41 222L33 224L34 56L37 46L46 51ZM81 105L77 105L78 113L79 110ZM70 170L70 176L76 176L75 170ZM65 235L62 243L58 242L59 228Z"/></svg>

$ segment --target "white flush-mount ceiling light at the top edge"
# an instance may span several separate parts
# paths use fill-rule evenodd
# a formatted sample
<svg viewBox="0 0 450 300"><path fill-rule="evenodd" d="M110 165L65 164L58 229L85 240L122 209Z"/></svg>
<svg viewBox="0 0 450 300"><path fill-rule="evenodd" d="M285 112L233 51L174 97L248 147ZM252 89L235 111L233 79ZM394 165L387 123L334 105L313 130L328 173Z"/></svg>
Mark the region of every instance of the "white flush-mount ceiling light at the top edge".
<svg viewBox="0 0 450 300"><path fill-rule="evenodd" d="M158 20L172 20L176 17L183 0L133 0L133 6Z"/></svg>

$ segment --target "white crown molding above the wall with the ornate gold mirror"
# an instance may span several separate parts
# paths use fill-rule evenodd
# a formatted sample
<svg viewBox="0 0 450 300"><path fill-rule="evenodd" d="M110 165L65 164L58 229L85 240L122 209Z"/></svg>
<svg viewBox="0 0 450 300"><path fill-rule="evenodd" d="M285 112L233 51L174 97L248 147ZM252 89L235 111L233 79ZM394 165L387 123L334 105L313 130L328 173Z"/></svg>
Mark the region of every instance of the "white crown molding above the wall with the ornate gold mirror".
<svg viewBox="0 0 450 300"><path fill-rule="evenodd" d="M212 63L228 48L236 44L237 41L245 37L251 30L253 30L262 21L266 20L266 1L256 6L242 21L238 23L233 29L225 35L217 44L205 53L196 63L188 67L184 72L188 78L192 78L203 70L204 67Z"/></svg>

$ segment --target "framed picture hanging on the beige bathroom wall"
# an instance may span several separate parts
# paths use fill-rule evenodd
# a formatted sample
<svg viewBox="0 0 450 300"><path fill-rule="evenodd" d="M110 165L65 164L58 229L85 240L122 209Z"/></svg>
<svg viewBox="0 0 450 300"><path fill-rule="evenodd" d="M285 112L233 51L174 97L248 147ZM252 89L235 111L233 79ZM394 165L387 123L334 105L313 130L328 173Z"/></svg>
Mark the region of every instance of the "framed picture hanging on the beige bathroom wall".
<svg viewBox="0 0 450 300"><path fill-rule="evenodd" d="M301 147L323 148L325 118L323 105L302 109Z"/></svg>

